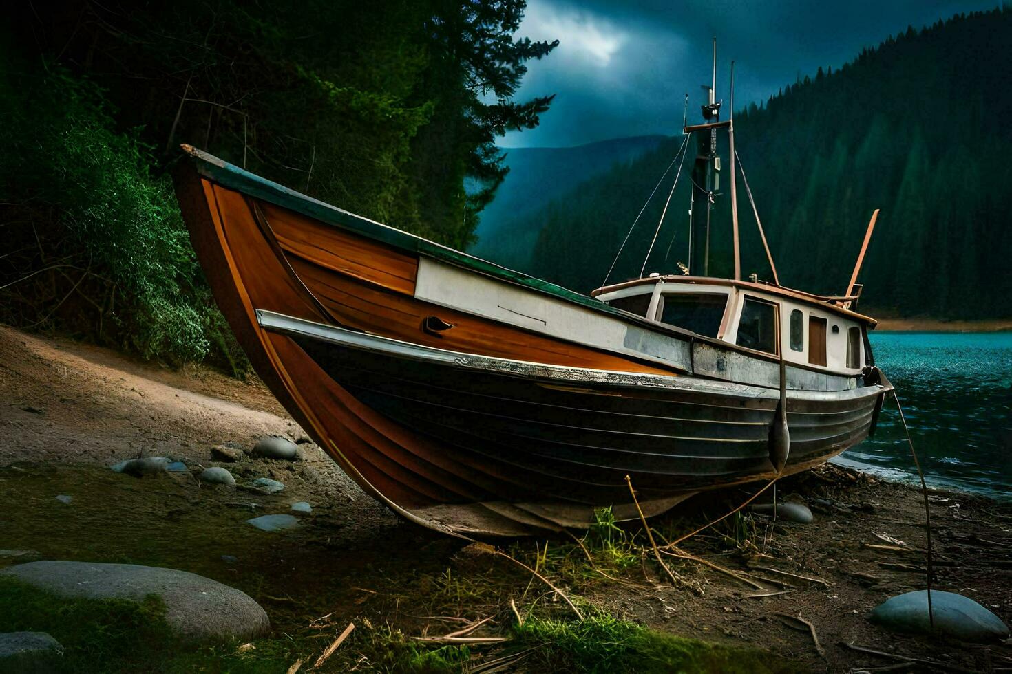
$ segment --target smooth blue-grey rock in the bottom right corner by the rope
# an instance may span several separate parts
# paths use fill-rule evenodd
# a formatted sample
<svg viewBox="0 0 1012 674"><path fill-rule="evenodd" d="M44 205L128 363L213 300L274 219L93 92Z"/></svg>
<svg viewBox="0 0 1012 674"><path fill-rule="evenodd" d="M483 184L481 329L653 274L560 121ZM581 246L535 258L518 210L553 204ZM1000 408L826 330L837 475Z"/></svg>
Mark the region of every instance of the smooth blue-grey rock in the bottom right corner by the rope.
<svg viewBox="0 0 1012 674"><path fill-rule="evenodd" d="M935 618L933 634L963 642L984 644L1001 641L1009 629L1001 618L968 597L953 592L932 590L931 609ZM931 634L928 617L928 592L907 592L875 606L871 620L894 632Z"/></svg>

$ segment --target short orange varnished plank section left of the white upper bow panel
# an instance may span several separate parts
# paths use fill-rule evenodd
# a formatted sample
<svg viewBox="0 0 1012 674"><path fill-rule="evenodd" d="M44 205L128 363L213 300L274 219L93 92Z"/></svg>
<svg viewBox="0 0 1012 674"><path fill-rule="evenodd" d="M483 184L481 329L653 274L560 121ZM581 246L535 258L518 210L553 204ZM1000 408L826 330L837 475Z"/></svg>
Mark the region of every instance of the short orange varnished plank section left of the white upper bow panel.
<svg viewBox="0 0 1012 674"><path fill-rule="evenodd" d="M417 258L279 206L260 202L260 207L288 255L406 295L415 294Z"/></svg>

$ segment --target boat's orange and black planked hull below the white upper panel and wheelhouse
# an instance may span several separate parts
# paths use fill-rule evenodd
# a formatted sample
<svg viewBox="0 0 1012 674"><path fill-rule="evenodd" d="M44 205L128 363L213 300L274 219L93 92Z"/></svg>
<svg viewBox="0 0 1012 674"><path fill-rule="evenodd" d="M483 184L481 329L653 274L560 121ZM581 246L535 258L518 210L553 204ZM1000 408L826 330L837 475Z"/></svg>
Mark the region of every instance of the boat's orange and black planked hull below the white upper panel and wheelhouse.
<svg viewBox="0 0 1012 674"><path fill-rule="evenodd" d="M403 516L520 535L584 526L608 505L634 516L626 475L648 515L777 476L777 390L428 301L419 255L293 210L283 188L230 185L216 166L184 166L177 193L219 306L285 408ZM826 388L839 390L788 391L783 474L861 442L887 390Z"/></svg>

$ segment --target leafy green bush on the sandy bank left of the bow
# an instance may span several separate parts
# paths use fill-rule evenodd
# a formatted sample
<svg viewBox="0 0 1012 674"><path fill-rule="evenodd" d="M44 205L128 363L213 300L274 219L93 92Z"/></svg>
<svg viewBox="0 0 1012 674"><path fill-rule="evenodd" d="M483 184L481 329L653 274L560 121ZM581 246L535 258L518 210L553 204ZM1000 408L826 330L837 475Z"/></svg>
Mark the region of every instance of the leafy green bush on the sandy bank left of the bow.
<svg viewBox="0 0 1012 674"><path fill-rule="evenodd" d="M16 281L43 270L33 283L12 286L18 295L0 298L5 319L79 330L86 315L92 329L84 331L145 358L215 356L244 370L171 181L151 173L155 160L140 129L116 129L102 91L64 70L5 84L0 185L15 209L13 217L7 211L15 237L30 244L33 231L38 257L3 272ZM50 278L58 291L46 297ZM73 311L89 303L88 312Z"/></svg>

